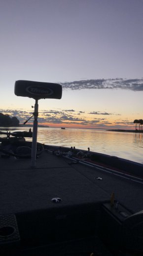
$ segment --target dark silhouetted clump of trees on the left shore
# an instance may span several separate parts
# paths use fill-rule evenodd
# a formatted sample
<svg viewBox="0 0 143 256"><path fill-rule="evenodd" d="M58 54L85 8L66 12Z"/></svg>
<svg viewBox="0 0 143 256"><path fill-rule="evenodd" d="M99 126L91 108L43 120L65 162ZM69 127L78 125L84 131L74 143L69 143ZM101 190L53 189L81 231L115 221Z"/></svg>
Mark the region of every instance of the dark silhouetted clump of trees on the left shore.
<svg viewBox="0 0 143 256"><path fill-rule="evenodd" d="M19 120L17 117L10 117L8 114L4 115L0 113L0 127L17 127L19 126Z"/></svg>

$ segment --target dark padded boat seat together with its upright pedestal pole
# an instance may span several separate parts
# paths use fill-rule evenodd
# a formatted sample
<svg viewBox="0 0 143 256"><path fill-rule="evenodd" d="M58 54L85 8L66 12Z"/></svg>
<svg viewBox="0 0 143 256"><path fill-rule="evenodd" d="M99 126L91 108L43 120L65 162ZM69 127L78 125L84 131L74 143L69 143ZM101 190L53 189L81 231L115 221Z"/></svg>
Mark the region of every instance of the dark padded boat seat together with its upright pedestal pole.
<svg viewBox="0 0 143 256"><path fill-rule="evenodd" d="M62 86L57 83L18 80L15 82L14 93L17 96L29 97L29 98L35 99L35 111L33 113L33 116L34 116L33 141L32 141L32 153L31 153L31 166L34 168L36 166L38 100L61 99ZM27 122L25 122L25 124L26 123Z"/></svg>

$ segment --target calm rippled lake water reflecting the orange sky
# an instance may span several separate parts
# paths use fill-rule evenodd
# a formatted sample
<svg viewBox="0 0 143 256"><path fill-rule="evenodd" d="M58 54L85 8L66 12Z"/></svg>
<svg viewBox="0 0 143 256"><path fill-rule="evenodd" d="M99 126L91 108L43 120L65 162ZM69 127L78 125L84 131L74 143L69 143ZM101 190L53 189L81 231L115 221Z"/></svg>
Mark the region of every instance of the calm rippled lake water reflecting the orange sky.
<svg viewBox="0 0 143 256"><path fill-rule="evenodd" d="M3 128L2 128L3 129ZM29 128L9 128L11 131ZM1 130L1 128L0 128ZM32 140L27 138L27 140ZM143 134L94 129L38 128L37 141L105 153L143 163Z"/></svg>

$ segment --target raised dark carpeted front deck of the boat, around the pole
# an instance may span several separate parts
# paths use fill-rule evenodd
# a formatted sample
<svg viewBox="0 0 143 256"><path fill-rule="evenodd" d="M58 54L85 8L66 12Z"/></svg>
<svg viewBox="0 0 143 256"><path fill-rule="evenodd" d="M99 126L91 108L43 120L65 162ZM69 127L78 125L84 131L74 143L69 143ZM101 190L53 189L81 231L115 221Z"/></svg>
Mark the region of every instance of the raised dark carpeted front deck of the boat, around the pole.
<svg viewBox="0 0 143 256"><path fill-rule="evenodd" d="M30 159L0 158L0 215L115 199L133 212L143 210L143 184L43 152L31 169ZM101 177L102 180L97 180ZM54 204L51 198L60 197Z"/></svg>

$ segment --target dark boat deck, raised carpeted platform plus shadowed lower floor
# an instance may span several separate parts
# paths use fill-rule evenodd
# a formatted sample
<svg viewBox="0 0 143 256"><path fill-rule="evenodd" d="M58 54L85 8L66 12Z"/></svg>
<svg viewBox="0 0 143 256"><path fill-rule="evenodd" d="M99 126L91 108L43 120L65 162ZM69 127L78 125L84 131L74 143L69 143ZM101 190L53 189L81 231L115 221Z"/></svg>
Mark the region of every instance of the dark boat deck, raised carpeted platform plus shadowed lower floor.
<svg viewBox="0 0 143 256"><path fill-rule="evenodd" d="M35 169L31 168L30 159L0 158L1 223L3 216L16 218L19 239L15 243L17 248L19 243L22 245L23 256L90 256L97 251L99 255L124 255L117 253L118 244L116 254L109 252L97 236L103 223L102 208L106 203L110 205L112 192L119 202L118 207L124 207L129 215L143 210L142 180L134 181L109 173L102 167L74 163L46 151L36 159ZM51 199L55 197L61 202L53 202ZM112 213L112 208L110 211ZM117 218L122 222L124 217ZM64 244L64 249L63 241L69 241ZM42 254L39 248L42 248Z"/></svg>

